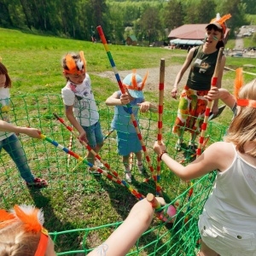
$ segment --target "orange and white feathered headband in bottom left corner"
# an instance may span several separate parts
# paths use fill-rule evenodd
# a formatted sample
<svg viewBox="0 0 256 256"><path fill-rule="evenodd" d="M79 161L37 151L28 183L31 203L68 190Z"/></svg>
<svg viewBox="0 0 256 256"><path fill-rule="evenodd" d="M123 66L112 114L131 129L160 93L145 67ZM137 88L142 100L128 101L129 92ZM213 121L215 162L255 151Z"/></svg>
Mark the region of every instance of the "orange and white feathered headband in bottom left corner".
<svg viewBox="0 0 256 256"><path fill-rule="evenodd" d="M32 206L17 206L14 210L7 212L0 209L0 229L9 224L22 223L26 232L41 232L38 249L35 256L42 256L45 254L48 245L48 231L44 229L44 214L42 210Z"/></svg>

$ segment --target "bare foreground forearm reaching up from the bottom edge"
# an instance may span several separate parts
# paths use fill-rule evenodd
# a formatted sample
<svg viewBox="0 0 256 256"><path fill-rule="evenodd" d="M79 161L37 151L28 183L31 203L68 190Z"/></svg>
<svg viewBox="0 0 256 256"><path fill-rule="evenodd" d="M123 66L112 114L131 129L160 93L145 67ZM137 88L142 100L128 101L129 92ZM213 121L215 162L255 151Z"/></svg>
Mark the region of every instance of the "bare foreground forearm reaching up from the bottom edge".
<svg viewBox="0 0 256 256"><path fill-rule="evenodd" d="M108 237L107 241L103 242L102 245L94 249L88 255L126 255L137 239L148 229L153 216L154 208L151 204L146 199L138 201L134 207L132 207L130 214L125 218L124 223L121 224L117 230L113 231L113 234ZM103 254L103 252L105 254Z"/></svg>

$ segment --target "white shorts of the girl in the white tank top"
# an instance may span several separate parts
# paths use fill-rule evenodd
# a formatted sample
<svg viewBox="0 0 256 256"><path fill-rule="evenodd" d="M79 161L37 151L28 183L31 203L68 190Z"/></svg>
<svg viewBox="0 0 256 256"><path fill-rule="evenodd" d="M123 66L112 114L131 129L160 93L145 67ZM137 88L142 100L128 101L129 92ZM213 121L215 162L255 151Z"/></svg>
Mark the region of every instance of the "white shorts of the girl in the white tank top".
<svg viewBox="0 0 256 256"><path fill-rule="evenodd" d="M221 256L256 256L256 231L219 224L207 212L199 216L201 239Z"/></svg>

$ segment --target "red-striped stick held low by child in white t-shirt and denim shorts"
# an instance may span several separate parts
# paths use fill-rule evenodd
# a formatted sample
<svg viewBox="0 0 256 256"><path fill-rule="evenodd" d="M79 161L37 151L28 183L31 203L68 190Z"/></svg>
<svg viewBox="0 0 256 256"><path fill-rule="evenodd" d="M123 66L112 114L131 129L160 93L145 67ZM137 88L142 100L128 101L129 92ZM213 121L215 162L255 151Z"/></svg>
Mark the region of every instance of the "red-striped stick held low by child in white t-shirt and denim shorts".
<svg viewBox="0 0 256 256"><path fill-rule="evenodd" d="M61 119L56 113L53 113L53 114L54 114L55 118L58 119L58 120L61 122L61 124L64 125L64 126L67 128L68 131L71 131L71 132L73 133L73 136L74 136L74 137L77 137L77 138L79 139L79 135L76 134L76 133L73 131L73 128L72 128L71 126L69 126L69 125L67 125L67 124L65 123L64 119ZM124 180L122 180L122 179L119 177L118 173L115 172L115 171L113 171L113 169L108 165L108 163L107 163L106 161L102 160L102 158L100 157L100 155L99 155L99 154L96 154L96 152L95 152L92 148L90 148L90 146L89 146L87 143L85 143L85 142L83 141L83 145L84 145L85 148L87 148L87 149L90 151L91 154L94 154L95 157L96 157L98 160L100 160L100 161L102 162L102 164L103 164L104 166L106 166L107 169L108 169L110 172L112 172L112 175L113 175L114 177L116 177L116 178L119 180L119 182L124 183L125 186L126 186L128 189L131 188L131 185L128 184L128 183L126 183ZM86 158L86 157L84 157L84 159L82 159L82 161L80 160L80 162L84 162L85 158ZM90 165L91 165L91 164L90 164ZM75 168L76 168L76 166L75 166ZM104 172L105 172L105 171L104 171ZM132 188L131 188L131 190L132 190L132 191L134 190L134 191L137 192L136 189L132 189ZM139 194L139 193L137 192L137 194ZM140 194L139 194L139 195L140 195Z"/></svg>

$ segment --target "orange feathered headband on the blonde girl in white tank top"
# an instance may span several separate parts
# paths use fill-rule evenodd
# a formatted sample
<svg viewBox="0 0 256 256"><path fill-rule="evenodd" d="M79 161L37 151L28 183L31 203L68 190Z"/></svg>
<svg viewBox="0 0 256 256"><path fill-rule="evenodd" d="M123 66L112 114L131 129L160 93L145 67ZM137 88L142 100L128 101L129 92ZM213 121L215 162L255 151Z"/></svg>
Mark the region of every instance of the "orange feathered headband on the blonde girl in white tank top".
<svg viewBox="0 0 256 256"><path fill-rule="evenodd" d="M239 99L239 91L243 85L242 68L236 69L234 96L236 97L237 106L256 108L256 101L250 99Z"/></svg>

